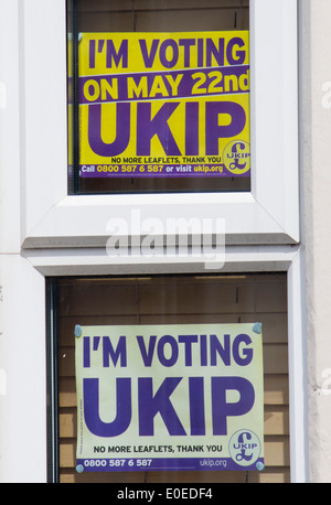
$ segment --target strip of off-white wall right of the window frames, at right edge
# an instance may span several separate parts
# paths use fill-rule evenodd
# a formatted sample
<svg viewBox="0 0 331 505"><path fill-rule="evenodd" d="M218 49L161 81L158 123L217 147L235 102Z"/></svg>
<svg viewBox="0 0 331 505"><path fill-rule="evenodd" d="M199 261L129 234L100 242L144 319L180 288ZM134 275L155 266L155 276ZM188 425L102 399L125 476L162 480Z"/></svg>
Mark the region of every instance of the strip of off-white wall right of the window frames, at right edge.
<svg viewBox="0 0 331 505"><path fill-rule="evenodd" d="M299 0L310 481L331 482L331 2Z"/></svg>

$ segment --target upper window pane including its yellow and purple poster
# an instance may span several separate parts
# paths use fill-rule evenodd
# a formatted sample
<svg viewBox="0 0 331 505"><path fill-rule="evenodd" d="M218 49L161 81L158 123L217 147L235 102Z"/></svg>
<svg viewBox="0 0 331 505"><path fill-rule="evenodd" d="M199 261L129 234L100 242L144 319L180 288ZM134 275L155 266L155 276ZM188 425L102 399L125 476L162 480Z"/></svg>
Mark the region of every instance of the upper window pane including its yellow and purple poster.
<svg viewBox="0 0 331 505"><path fill-rule="evenodd" d="M70 192L249 191L248 30L248 0L71 0Z"/></svg>

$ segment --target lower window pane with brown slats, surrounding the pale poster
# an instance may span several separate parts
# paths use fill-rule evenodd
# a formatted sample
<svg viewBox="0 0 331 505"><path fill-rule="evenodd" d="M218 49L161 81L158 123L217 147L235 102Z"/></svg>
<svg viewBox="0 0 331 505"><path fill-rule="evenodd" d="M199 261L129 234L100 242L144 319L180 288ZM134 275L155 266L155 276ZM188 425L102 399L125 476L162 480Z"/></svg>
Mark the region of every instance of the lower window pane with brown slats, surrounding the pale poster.
<svg viewBox="0 0 331 505"><path fill-rule="evenodd" d="M56 280L56 286L61 482L289 482L285 273L68 278ZM77 396L74 358L76 324L138 327L254 321L261 322L263 326L266 464L263 472L174 470L77 473ZM90 348L93 350L92 346ZM93 351L90 352L93 354ZM137 355L137 359L138 357ZM122 370L124 368L120 369L120 375L124 374ZM169 368L167 370L169 372ZM137 443L138 439L137 436ZM190 440L192 441L192 436ZM114 444L116 445L116 442Z"/></svg>

